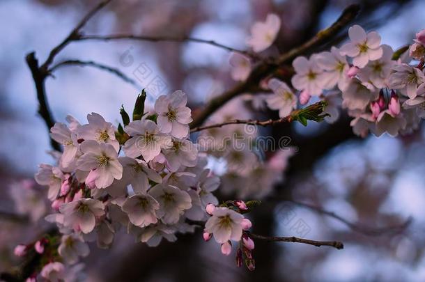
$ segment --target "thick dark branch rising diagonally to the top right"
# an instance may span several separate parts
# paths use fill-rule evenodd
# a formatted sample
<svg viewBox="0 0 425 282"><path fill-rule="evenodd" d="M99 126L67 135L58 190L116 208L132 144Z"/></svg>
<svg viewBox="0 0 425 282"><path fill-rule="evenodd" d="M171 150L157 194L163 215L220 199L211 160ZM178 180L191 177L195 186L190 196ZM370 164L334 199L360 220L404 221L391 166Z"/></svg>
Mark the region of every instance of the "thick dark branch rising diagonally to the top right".
<svg viewBox="0 0 425 282"><path fill-rule="evenodd" d="M201 111L199 116L196 116L196 118L191 124L191 127L194 128L202 125L212 113L217 111L219 107L222 107L223 104L231 100L233 97L236 97L237 95L240 95L242 93L250 92L252 88L257 87L261 79L275 72L279 68L279 65L291 63L291 61L297 56L305 54L314 47L323 45L323 43L325 43L327 40L330 40L333 36L336 36L337 33L339 33L341 29L343 29L344 26L351 22L357 16L359 11L359 5L348 6L345 10L343 10L343 13L337 19L337 21L334 22L334 24L332 24L327 29L318 32L317 35L314 36L314 38L311 38L309 41L305 42L300 47L291 49L286 54L282 54L281 56L279 56L279 58L277 58L275 63L263 62L258 65L256 68L254 68L254 70L252 70L251 74L245 82L237 84L236 86L231 88L231 90L210 100L210 102L206 105L205 109Z"/></svg>

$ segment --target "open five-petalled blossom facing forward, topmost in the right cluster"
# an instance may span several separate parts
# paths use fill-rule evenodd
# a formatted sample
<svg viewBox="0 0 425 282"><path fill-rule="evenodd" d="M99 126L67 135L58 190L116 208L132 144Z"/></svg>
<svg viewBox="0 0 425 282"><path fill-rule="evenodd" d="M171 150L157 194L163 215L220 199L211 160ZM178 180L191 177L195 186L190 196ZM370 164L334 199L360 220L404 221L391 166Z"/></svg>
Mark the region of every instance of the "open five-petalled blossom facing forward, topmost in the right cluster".
<svg viewBox="0 0 425 282"><path fill-rule="evenodd" d="M366 34L362 26L354 25L348 29L351 42L341 47L341 55L353 58L353 65L364 68L369 61L378 60L383 56L380 47L380 36L376 31Z"/></svg>

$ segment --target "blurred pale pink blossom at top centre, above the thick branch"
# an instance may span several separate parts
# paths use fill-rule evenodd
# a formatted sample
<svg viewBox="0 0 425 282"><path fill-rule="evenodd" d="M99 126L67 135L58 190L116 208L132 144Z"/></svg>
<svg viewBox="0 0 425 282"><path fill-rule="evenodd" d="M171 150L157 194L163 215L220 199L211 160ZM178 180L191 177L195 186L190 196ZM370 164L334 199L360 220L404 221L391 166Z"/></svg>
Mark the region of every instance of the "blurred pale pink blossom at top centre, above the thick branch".
<svg viewBox="0 0 425 282"><path fill-rule="evenodd" d="M251 37L247 45L254 52L261 52L273 44L280 29L280 18L275 14L268 14L265 22L256 22L251 28Z"/></svg>

